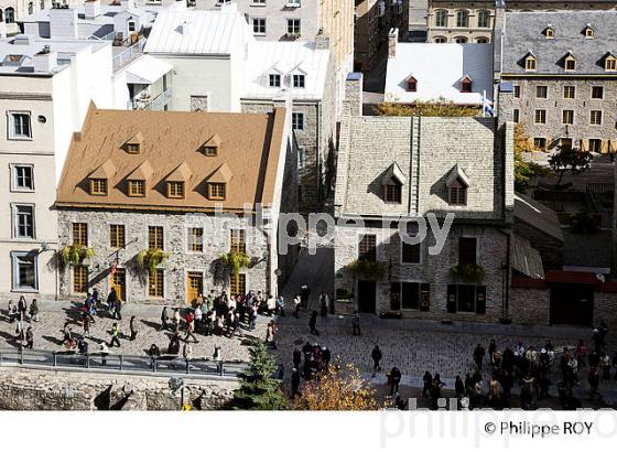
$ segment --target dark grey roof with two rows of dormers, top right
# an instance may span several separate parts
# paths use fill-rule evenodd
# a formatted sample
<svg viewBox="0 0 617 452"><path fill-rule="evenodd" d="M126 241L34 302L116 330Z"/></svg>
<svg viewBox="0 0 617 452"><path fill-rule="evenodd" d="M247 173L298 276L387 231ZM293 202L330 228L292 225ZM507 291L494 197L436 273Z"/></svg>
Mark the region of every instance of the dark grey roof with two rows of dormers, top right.
<svg viewBox="0 0 617 452"><path fill-rule="evenodd" d="M504 31L502 72L529 74L524 57L532 52L537 71L532 74L606 74L604 57L617 55L617 11L555 11L506 12ZM546 39L544 30L554 30L554 39ZM594 30L586 39L585 28ZM576 58L576 71L565 72L564 56L571 52Z"/></svg>

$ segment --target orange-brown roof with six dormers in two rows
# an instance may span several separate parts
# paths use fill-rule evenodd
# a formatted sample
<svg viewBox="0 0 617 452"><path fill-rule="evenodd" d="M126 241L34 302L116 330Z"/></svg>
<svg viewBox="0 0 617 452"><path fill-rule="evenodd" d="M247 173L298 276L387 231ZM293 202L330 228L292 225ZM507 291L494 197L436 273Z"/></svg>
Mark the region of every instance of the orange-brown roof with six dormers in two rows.
<svg viewBox="0 0 617 452"><path fill-rule="evenodd" d="M74 137L57 190L59 207L241 211L273 201L285 129L285 110L271 114L100 110L90 107ZM123 150L141 134L139 154ZM219 142L216 157L199 150ZM94 172L93 172L94 171ZM91 196L89 177L108 179L108 195ZM206 197L210 177L227 183L225 201ZM144 197L127 195L127 180L145 180ZM170 179L172 177L172 179ZM184 198L166 197L165 182L183 180ZM182 179L185 177L185 179ZM213 182L213 181L210 181Z"/></svg>

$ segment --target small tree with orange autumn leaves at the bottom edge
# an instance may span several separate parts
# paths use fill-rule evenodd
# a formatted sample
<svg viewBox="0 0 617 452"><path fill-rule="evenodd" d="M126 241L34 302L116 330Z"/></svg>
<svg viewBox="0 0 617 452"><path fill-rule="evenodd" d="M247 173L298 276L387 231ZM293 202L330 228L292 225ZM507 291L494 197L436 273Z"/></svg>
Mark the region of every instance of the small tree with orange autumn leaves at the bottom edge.
<svg viewBox="0 0 617 452"><path fill-rule="evenodd" d="M345 367L332 365L329 373L307 381L293 408L311 411L365 411L378 410L382 405L377 401L376 391L370 384L353 364L348 364Z"/></svg>

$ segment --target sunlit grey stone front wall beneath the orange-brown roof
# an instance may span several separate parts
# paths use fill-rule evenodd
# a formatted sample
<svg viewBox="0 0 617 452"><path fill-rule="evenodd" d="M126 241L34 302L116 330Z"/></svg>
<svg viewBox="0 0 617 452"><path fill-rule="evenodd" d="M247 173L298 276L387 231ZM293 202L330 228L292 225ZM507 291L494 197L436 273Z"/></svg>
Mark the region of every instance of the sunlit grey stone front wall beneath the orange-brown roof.
<svg viewBox="0 0 617 452"><path fill-rule="evenodd" d="M110 225L123 225L126 243L136 240L118 254L118 268L126 270L126 300L128 302L184 303L186 301L187 272L202 272L204 293L212 289L228 290L228 272L217 263L221 255L229 251L229 230L245 229L247 254L256 262L241 269L246 275L247 290L277 291L270 287L269 268L264 256L268 243L262 230L251 226L249 217L224 217L206 214L164 214L110 211L58 211L58 236L61 246L72 244L73 223L88 225L88 246L96 256L88 265L89 287L96 287L101 295L109 293L110 271L115 260L115 248L110 247ZM164 250L170 258L160 266L164 270L164 297L153 299L148 294L147 271L136 263L139 251L148 249L148 227L163 227ZM188 228L204 229L203 252L188 251ZM73 291L73 268L59 270L59 293L63 298L82 297ZM273 270L272 270L273 271Z"/></svg>

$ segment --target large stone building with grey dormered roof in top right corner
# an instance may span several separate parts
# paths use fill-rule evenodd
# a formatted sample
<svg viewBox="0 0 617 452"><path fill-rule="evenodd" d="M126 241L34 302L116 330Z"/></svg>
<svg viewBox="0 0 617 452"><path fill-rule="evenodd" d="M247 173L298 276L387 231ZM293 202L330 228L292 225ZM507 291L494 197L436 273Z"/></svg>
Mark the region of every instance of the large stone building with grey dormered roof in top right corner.
<svg viewBox="0 0 617 452"><path fill-rule="evenodd" d="M615 152L617 11L497 11L498 115L539 150Z"/></svg>

